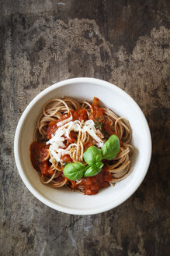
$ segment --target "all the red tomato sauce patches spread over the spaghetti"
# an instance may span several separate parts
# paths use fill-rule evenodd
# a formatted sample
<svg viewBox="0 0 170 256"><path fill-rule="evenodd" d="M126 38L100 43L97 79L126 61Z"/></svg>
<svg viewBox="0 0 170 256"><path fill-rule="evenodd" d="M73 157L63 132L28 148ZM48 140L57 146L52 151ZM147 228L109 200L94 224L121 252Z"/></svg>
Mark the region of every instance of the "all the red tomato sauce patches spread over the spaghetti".
<svg viewBox="0 0 170 256"><path fill-rule="evenodd" d="M99 99L93 98L92 101L92 107L91 107L92 114L90 116L87 115L87 110L85 108L78 108L77 111L71 110L66 115L61 116L60 119L58 119L56 122L52 121L47 125L47 140L50 140L51 135L56 132L58 129L57 123L63 121L64 119L68 119L71 115L73 117L73 121L79 120L79 121L86 121L87 119L92 119L94 122L100 124L98 128L102 131L103 135L105 133L108 134L108 137L112 134L116 134L113 132L109 121L104 117L105 110L104 108L99 107ZM75 133L74 131L71 131L69 134L70 139L67 141L64 141L65 146L68 146L69 143L74 143L78 133ZM116 134L117 136L117 134ZM92 146L92 142L88 142L85 144L84 150L90 146ZM123 143L120 140L120 145L122 146ZM31 151L31 162L33 164L33 167L40 172L42 175L45 176L52 176L54 171L50 169L51 164L48 161L50 158L49 146L45 143L39 143L39 142L33 142L30 147ZM61 156L61 159L64 162L73 162L70 155L63 155ZM63 172L60 173L60 176L57 177L57 181L63 181L65 179ZM85 194L91 195L91 194L97 194L99 192L99 189L103 187L109 186L109 181L112 180L111 173L106 171L106 168L102 168L101 172L97 174L96 176L92 177L86 177L82 181L82 183L75 183L75 181L69 180L70 186L72 189L78 188L79 186L83 187Z"/></svg>

